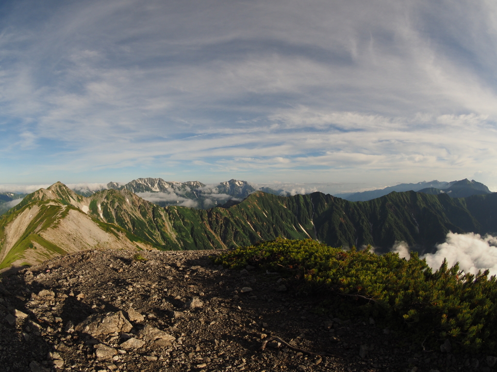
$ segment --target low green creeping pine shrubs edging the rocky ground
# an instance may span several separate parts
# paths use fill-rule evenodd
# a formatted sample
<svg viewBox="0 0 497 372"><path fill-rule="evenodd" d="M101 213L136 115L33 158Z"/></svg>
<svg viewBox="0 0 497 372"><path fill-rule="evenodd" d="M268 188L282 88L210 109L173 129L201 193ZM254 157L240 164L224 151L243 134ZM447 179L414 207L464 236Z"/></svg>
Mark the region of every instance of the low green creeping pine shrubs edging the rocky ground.
<svg viewBox="0 0 497 372"><path fill-rule="evenodd" d="M406 260L397 253L344 251L310 239L278 238L213 259L227 268L250 264L293 276L301 293L325 291L352 300L356 311L408 330L423 346L449 339L463 351L497 351L497 284L488 270L465 274L444 261L432 272L415 252Z"/></svg>

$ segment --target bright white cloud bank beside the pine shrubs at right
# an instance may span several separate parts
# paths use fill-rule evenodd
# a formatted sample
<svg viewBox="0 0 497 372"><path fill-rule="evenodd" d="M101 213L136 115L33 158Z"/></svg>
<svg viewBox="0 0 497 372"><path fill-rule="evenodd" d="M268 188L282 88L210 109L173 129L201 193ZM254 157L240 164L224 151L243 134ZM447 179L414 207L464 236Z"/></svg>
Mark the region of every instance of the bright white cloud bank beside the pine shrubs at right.
<svg viewBox="0 0 497 372"><path fill-rule="evenodd" d="M459 262L465 272L476 274L479 270L490 270L490 275L497 275L497 238L479 234L448 233L445 243L437 245L435 253L422 255L432 269L440 267L443 259L447 259L449 267Z"/></svg>

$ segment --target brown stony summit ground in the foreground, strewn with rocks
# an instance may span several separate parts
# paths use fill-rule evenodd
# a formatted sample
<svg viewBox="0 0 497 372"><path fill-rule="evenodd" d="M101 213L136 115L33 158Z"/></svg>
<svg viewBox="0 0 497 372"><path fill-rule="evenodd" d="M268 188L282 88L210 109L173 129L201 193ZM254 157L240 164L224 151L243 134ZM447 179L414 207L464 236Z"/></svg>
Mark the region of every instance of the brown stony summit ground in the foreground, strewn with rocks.
<svg viewBox="0 0 497 372"><path fill-rule="evenodd" d="M495 371L487 356L415 353L375 319L320 311L322 296L214 250L92 250L0 284L0 371Z"/></svg>

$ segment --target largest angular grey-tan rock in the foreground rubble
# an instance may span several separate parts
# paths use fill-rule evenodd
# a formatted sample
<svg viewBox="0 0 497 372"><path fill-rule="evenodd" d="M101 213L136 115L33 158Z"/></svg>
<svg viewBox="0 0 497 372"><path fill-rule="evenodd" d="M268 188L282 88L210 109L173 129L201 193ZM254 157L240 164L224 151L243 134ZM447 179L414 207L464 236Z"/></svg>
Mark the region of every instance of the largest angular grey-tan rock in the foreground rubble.
<svg viewBox="0 0 497 372"><path fill-rule="evenodd" d="M122 311L93 314L76 326L78 332L92 336L107 335L110 333L129 332L133 326L124 317Z"/></svg>

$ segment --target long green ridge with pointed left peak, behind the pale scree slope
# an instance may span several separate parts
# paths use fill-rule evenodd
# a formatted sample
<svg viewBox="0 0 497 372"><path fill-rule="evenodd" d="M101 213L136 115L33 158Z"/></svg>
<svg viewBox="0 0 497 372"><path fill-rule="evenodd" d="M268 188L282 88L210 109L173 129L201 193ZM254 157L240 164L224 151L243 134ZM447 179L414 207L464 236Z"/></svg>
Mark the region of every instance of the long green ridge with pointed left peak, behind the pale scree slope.
<svg viewBox="0 0 497 372"><path fill-rule="evenodd" d="M67 206L71 213L78 211L107 230L126 232L129 241L140 240L161 249L236 248L283 237L317 239L332 247L371 244L378 251L404 241L425 252L444 242L449 231L497 231L496 195L451 198L408 191L351 202L321 192L286 197L257 191L229 208L201 210L163 208L128 189L102 190L84 197L57 183L26 196L0 220L0 229L23 208L48 203L59 209L40 211L40 221L50 220L54 213L59 216L57 221L64 221L66 212L61 208ZM63 241L57 246L67 251Z"/></svg>

